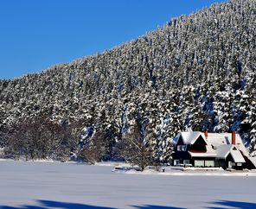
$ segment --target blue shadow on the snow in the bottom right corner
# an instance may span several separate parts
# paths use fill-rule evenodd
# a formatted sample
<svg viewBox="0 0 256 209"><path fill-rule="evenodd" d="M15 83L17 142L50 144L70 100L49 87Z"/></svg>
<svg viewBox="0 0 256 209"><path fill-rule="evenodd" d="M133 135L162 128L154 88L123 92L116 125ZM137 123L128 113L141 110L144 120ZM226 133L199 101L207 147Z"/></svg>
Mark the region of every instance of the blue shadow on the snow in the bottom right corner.
<svg viewBox="0 0 256 209"><path fill-rule="evenodd" d="M256 203L228 201L228 200L218 200L218 201L210 202L210 204L217 205L217 206L208 207L208 209L217 209L217 208L220 209L220 206L230 206L237 209L256 208Z"/></svg>

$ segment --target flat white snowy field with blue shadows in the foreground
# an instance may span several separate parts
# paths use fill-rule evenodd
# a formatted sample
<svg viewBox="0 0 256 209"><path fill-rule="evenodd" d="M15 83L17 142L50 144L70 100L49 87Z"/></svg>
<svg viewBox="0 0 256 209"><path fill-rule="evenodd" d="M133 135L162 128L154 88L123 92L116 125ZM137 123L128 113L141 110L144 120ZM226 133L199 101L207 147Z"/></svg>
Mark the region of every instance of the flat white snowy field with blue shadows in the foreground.
<svg viewBox="0 0 256 209"><path fill-rule="evenodd" d="M256 208L256 177L118 174L109 166L0 161L0 208Z"/></svg>

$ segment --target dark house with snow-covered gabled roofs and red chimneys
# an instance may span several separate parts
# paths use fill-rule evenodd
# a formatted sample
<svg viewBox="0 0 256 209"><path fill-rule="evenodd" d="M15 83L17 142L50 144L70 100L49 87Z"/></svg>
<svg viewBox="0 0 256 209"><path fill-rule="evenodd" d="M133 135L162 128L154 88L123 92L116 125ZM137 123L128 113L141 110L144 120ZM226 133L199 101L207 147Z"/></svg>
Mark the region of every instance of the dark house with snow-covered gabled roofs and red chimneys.
<svg viewBox="0 0 256 209"><path fill-rule="evenodd" d="M240 135L181 132L174 138L173 165L203 168L255 168Z"/></svg>

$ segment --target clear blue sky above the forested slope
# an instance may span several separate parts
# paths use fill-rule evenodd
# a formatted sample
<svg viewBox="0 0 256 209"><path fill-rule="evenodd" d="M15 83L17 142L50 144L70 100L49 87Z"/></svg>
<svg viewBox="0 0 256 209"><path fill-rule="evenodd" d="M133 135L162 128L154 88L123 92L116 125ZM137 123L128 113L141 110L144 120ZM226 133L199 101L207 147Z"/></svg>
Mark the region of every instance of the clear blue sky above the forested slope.
<svg viewBox="0 0 256 209"><path fill-rule="evenodd" d="M0 79L93 55L224 0L0 0Z"/></svg>

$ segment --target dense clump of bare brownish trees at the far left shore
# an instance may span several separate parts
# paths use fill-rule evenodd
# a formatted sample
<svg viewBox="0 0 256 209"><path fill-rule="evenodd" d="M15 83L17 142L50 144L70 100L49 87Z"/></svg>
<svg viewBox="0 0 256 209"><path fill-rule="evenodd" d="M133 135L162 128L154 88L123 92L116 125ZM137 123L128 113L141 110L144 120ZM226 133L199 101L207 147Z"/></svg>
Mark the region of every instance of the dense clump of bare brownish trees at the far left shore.
<svg viewBox="0 0 256 209"><path fill-rule="evenodd" d="M1 133L2 157L68 161L77 150L77 127L35 117L6 126Z"/></svg>

